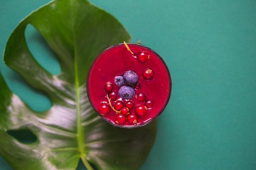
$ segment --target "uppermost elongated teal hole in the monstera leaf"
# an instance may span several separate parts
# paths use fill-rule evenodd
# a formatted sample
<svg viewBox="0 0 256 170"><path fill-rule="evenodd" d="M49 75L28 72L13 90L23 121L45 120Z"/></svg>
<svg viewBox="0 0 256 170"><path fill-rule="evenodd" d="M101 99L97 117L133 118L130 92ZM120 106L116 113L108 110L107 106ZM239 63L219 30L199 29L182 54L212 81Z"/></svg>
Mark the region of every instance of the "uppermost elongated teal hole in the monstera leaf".
<svg viewBox="0 0 256 170"><path fill-rule="evenodd" d="M61 73L61 66L41 33L31 24L25 30L25 39L35 60L53 75Z"/></svg>

